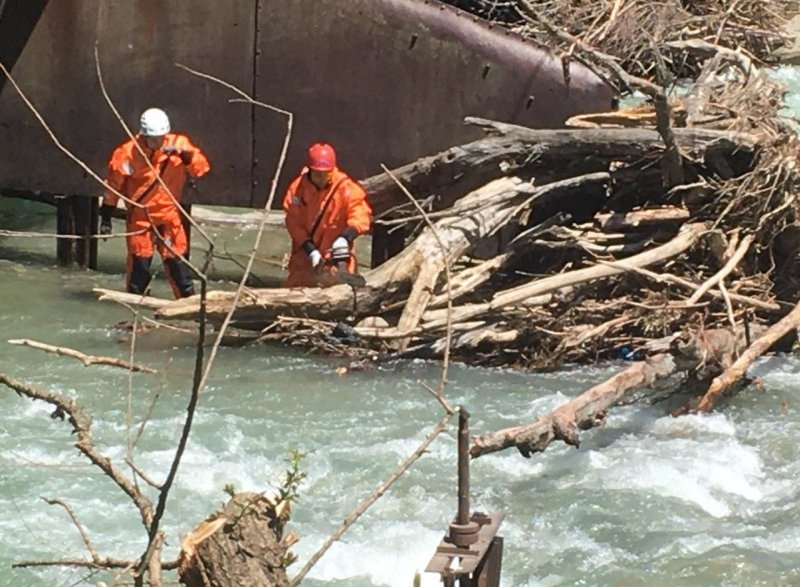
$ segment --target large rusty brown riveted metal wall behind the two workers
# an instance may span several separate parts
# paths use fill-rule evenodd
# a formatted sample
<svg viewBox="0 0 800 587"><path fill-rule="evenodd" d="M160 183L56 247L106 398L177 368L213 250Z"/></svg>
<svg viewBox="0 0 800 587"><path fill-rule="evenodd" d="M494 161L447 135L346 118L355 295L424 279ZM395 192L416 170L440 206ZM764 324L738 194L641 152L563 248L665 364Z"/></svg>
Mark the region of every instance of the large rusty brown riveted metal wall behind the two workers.
<svg viewBox="0 0 800 587"><path fill-rule="evenodd" d="M286 117L294 114L280 187L306 146L333 143L356 178L478 137L465 116L533 127L612 107L614 93L511 32L435 0L0 0L0 59L55 135L100 176L124 140L102 96L134 126L150 106L209 154L196 203L260 207ZM0 84L0 189L98 195L9 83ZM280 195L280 193L279 193Z"/></svg>

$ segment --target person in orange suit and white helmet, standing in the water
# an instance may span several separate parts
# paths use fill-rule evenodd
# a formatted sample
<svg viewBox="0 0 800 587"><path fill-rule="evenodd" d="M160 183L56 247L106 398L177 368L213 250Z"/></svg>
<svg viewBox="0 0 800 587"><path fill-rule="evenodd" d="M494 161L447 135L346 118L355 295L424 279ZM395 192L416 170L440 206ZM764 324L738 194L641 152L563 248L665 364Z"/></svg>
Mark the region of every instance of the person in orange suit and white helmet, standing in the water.
<svg viewBox="0 0 800 587"><path fill-rule="evenodd" d="M153 251L158 250L172 293L176 298L187 297L194 294L194 285L189 268L181 260L187 253L188 240L180 200L187 176L205 175L210 165L186 135L170 132L163 110L145 110L140 123L139 134L114 149L106 177L109 188L129 200L125 201L126 289L141 295L148 292ZM106 189L100 208L100 234L111 234L111 215L118 200L111 189Z"/></svg>

